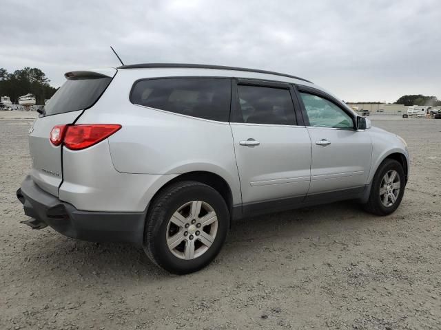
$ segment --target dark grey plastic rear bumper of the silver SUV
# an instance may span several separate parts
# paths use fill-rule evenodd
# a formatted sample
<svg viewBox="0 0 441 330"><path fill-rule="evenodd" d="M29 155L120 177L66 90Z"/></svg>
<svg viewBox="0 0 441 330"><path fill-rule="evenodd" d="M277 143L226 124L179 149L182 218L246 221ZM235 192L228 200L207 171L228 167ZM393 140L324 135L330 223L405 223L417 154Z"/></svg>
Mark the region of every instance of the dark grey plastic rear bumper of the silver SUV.
<svg viewBox="0 0 441 330"><path fill-rule="evenodd" d="M85 241L143 243L145 212L77 210L39 188L30 175L17 190L17 198L25 214L35 219L32 228L49 225L65 236Z"/></svg>

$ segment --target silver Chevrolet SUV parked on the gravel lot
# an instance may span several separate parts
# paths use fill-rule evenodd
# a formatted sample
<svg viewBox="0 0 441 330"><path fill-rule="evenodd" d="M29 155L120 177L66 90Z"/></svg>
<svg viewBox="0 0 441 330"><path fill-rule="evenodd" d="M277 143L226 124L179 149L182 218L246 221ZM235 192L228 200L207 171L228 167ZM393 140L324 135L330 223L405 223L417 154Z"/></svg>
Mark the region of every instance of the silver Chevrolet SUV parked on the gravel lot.
<svg viewBox="0 0 441 330"><path fill-rule="evenodd" d="M232 220L358 199L398 208L407 145L308 80L212 65L68 72L29 131L32 228L142 245L194 272Z"/></svg>

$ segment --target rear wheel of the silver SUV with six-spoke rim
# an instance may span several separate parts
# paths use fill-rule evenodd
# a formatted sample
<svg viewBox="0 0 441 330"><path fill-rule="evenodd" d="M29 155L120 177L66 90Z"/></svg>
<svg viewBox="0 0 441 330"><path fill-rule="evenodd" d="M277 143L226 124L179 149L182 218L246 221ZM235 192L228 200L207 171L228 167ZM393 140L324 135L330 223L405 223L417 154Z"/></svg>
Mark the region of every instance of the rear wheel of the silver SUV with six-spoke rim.
<svg viewBox="0 0 441 330"><path fill-rule="evenodd" d="M201 211L194 216L198 207ZM216 257L228 230L229 211L219 192L196 181L181 181L152 200L145 223L144 250L164 270L188 274L201 270Z"/></svg>

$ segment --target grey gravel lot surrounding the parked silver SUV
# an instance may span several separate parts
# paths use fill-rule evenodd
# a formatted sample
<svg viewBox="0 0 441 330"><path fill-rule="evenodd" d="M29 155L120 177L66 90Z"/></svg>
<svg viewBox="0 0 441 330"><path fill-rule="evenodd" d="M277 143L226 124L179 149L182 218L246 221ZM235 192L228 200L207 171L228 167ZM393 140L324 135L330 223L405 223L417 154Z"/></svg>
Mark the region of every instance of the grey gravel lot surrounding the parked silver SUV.
<svg viewBox="0 0 441 330"><path fill-rule="evenodd" d="M441 329L441 120L371 116L409 143L395 214L334 203L238 221L180 277L131 245L19 223L32 120L5 118L32 115L0 112L0 329Z"/></svg>

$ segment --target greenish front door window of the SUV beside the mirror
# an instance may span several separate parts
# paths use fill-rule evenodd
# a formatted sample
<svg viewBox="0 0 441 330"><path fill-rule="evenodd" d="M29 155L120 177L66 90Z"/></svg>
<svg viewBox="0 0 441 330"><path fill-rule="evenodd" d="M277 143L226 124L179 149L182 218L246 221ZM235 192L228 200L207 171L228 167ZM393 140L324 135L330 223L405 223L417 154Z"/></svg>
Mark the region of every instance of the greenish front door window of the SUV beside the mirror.
<svg viewBox="0 0 441 330"><path fill-rule="evenodd" d="M353 129L353 121L333 102L313 94L300 93L309 119L309 126Z"/></svg>

